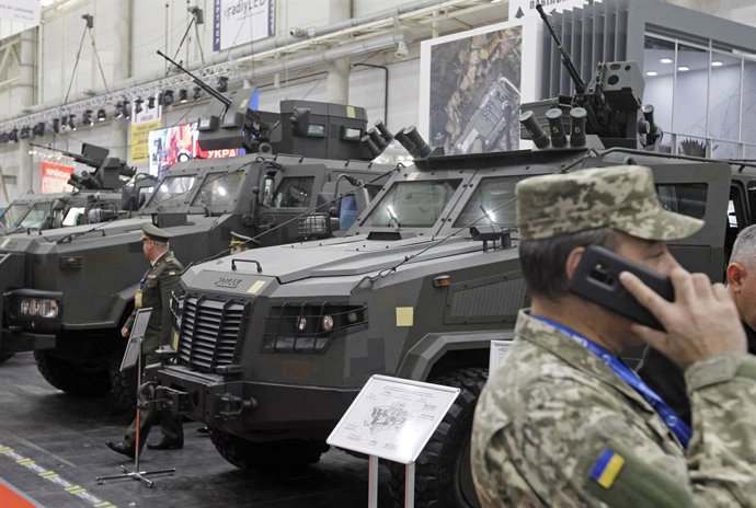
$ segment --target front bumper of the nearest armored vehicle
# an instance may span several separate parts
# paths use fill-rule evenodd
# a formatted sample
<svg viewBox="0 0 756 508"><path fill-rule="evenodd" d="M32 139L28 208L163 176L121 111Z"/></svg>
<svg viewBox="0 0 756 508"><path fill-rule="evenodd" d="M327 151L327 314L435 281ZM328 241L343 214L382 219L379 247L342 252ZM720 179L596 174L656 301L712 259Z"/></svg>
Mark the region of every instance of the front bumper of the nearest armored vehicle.
<svg viewBox="0 0 756 508"><path fill-rule="evenodd" d="M325 439L359 389L229 380L181 366L148 369L160 399L192 419L250 440Z"/></svg>

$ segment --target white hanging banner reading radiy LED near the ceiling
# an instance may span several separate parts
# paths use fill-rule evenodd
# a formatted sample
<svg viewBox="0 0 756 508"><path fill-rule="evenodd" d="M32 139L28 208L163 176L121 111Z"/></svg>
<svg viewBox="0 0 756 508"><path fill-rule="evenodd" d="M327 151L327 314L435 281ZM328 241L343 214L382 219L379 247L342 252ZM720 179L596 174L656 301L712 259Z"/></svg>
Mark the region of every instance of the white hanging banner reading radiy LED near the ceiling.
<svg viewBox="0 0 756 508"><path fill-rule="evenodd" d="M215 0L213 49L270 37L275 33L275 0Z"/></svg>

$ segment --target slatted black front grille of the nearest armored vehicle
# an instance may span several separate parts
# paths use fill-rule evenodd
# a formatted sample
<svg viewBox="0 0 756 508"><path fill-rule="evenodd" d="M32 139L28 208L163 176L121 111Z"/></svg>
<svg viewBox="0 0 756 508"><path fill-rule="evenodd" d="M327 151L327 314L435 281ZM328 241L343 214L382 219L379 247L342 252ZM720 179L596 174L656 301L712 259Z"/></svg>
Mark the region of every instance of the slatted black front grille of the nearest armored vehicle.
<svg viewBox="0 0 756 508"><path fill-rule="evenodd" d="M181 316L181 362L205 372L231 365L243 312L243 301L187 295Z"/></svg>

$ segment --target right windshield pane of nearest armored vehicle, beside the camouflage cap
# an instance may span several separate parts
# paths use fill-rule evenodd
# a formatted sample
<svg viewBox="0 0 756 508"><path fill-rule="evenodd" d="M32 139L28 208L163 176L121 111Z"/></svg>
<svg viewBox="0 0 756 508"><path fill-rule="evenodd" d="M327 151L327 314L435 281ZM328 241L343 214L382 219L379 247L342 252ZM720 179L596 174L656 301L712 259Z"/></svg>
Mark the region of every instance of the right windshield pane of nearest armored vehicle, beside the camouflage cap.
<svg viewBox="0 0 756 508"><path fill-rule="evenodd" d="M519 176L501 176L481 180L478 188L465 205L454 223L455 228L466 226L494 224L501 227L517 223L515 184Z"/></svg>

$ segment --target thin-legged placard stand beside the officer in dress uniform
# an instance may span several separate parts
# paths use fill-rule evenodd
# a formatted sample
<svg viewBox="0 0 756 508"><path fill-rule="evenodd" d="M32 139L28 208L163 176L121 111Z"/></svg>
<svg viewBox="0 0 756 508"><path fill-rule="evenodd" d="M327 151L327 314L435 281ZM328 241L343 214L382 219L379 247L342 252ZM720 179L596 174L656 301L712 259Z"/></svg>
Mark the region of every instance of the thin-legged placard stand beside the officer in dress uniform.
<svg viewBox="0 0 756 508"><path fill-rule="evenodd" d="M128 344L126 344L126 351L124 351L124 358L121 360L121 371L123 372L126 369L129 369L131 367L137 366L137 414L136 414L136 428L137 428L137 434L136 434L136 439L134 442L134 470L129 470L126 467L126 465L121 465L121 469L124 471L123 474L115 474L112 476L98 476L95 477L98 485L102 485L103 482L107 480L118 480L118 478L131 478L131 480L138 480L139 482L144 483L147 485L149 488L152 488L154 486L154 482L151 480L147 478L147 476L154 475L154 474L168 474L172 475L175 473L175 467L167 469L167 470L156 470L156 471L139 471L139 442L140 442L140 436L139 436L139 424L141 419L141 407L139 403L139 386L141 385L141 342L145 338L145 332L147 330L147 323L150 319L150 314L152 313L152 309L139 309L137 310L137 314L134 319L134 326L131 326L131 334L129 335L128 338ZM148 404L154 404L156 401L150 401Z"/></svg>

